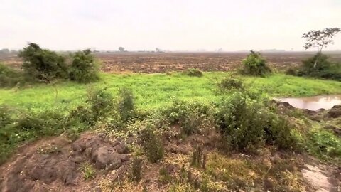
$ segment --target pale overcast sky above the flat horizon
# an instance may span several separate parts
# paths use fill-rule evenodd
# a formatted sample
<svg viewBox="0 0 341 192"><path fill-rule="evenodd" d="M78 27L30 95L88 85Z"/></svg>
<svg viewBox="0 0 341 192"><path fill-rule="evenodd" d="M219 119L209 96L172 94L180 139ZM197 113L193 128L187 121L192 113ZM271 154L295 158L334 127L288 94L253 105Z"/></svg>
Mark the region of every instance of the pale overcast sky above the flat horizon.
<svg viewBox="0 0 341 192"><path fill-rule="evenodd" d="M328 27L341 28L341 0L0 0L11 49L303 50L303 33Z"/></svg>

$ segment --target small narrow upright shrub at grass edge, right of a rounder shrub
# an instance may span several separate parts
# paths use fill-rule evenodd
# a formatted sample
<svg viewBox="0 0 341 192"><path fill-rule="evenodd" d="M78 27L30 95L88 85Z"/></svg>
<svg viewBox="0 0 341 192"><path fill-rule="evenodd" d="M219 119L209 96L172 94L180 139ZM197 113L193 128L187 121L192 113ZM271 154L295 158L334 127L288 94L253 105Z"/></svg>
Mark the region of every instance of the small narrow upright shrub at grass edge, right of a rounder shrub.
<svg viewBox="0 0 341 192"><path fill-rule="evenodd" d="M130 89L122 88L119 90L118 107L119 114L121 114L124 121L128 121L134 117L134 95Z"/></svg>

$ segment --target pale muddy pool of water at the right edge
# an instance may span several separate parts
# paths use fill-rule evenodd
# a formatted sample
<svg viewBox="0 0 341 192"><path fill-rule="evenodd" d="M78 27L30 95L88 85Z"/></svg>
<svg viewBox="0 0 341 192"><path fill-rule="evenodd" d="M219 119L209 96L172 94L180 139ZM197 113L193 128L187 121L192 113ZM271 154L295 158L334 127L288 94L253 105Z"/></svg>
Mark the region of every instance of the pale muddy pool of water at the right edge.
<svg viewBox="0 0 341 192"><path fill-rule="evenodd" d="M316 97L280 98L281 102L288 102L293 107L308 110L329 110L334 105L341 105L341 95L325 95Z"/></svg>

